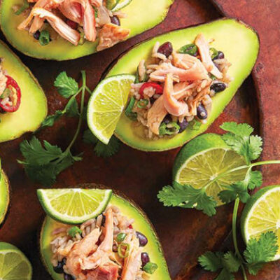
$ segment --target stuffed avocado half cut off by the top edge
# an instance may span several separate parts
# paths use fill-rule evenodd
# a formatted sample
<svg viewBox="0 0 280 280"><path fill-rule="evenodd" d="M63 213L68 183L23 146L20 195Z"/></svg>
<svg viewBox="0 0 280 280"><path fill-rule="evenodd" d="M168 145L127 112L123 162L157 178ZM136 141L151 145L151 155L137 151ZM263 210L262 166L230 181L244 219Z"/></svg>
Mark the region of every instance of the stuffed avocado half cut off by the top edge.
<svg viewBox="0 0 280 280"><path fill-rule="evenodd" d="M158 25L173 0L3 0L1 29L15 48L66 60L110 48ZM147 16L146 7L151 16Z"/></svg>

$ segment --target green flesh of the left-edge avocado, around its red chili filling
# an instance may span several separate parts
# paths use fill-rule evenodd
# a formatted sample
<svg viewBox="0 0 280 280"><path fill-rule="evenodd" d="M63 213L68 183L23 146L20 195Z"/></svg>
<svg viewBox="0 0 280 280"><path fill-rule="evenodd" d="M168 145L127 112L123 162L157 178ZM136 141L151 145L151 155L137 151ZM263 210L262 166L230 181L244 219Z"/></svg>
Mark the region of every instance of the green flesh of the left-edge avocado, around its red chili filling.
<svg viewBox="0 0 280 280"><path fill-rule="evenodd" d="M20 59L0 41L1 66L14 78L22 92L20 108L13 113L0 113L0 142L16 139L25 132L36 130L45 116L48 106L38 81Z"/></svg>

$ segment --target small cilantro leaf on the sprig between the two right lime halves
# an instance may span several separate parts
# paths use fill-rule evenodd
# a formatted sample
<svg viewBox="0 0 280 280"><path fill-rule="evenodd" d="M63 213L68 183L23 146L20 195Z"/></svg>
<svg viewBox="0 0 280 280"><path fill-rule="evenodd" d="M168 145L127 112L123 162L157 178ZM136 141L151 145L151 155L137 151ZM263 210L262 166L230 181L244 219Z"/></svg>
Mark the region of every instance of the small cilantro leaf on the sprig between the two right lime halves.
<svg viewBox="0 0 280 280"><path fill-rule="evenodd" d="M226 187L227 190L222 190L218 193L218 197L222 200L222 202L229 203L237 199L241 200L241 202L246 203L250 198L248 194L247 185L244 181L239 181L237 183L233 183L232 185Z"/></svg>

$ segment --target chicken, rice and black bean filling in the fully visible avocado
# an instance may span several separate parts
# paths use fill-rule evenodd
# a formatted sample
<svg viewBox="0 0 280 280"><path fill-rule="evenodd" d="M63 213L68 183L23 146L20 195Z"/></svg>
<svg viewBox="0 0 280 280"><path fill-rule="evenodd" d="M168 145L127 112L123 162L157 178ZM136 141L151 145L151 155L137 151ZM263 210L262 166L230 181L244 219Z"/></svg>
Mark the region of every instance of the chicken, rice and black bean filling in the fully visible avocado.
<svg viewBox="0 0 280 280"><path fill-rule="evenodd" d="M207 123L212 97L232 80L230 62L210 43L203 34L178 51L170 42L157 42L151 57L139 63L125 115L144 125L149 139L173 137L195 121Z"/></svg>

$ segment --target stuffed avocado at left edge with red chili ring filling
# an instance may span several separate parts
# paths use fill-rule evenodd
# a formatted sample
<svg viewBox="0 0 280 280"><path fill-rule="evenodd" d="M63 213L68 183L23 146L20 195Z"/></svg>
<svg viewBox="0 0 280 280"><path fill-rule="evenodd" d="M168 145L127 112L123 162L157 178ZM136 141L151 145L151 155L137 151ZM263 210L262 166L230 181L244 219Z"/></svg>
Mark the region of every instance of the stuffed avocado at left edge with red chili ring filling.
<svg viewBox="0 0 280 280"><path fill-rule="evenodd" d="M0 41L0 142L36 130L47 114L47 100L37 80Z"/></svg>

